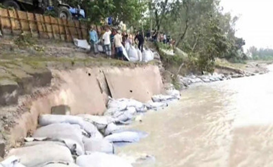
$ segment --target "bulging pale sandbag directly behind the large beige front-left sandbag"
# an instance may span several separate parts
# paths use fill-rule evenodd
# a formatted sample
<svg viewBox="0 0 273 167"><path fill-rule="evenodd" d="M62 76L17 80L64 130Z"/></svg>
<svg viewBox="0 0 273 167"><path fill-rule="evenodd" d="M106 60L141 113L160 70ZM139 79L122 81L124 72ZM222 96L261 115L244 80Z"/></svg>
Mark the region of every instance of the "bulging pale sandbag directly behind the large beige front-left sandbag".
<svg viewBox="0 0 273 167"><path fill-rule="evenodd" d="M33 138L48 137L59 139L66 143L71 152L76 150L77 155L84 154L83 136L80 126L77 124L57 123L37 129ZM75 148L76 145L76 148Z"/></svg>

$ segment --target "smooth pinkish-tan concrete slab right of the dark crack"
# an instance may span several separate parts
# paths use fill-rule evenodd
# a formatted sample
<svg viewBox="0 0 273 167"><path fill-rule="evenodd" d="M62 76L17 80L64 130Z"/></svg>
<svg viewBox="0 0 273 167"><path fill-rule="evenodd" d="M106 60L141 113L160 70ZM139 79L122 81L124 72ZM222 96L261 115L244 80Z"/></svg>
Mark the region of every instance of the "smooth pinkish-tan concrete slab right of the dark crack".
<svg viewBox="0 0 273 167"><path fill-rule="evenodd" d="M103 71L114 99L133 98L146 102L163 93L163 82L157 66L113 68Z"/></svg>

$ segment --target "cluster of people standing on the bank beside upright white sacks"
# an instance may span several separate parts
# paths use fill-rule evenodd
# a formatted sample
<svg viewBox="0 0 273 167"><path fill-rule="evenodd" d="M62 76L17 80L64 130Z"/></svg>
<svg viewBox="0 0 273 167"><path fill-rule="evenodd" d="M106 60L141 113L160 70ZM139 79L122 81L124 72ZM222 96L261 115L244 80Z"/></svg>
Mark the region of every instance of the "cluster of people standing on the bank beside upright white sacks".
<svg viewBox="0 0 273 167"><path fill-rule="evenodd" d="M138 48L143 51L144 37L140 32L136 33L136 36L133 40L133 35L126 34L125 32L121 33L120 30L113 30L111 32L109 27L106 27L106 31L102 34L102 43L103 50L107 55L107 58L110 59L112 55L112 50L115 51L115 55L118 59L123 60L123 47L125 47L126 43L134 44L136 43L136 39L138 41ZM99 37L98 33L94 29L93 26L90 26L89 31L89 43L91 45L91 50L94 51L95 55L99 53L98 44Z"/></svg>

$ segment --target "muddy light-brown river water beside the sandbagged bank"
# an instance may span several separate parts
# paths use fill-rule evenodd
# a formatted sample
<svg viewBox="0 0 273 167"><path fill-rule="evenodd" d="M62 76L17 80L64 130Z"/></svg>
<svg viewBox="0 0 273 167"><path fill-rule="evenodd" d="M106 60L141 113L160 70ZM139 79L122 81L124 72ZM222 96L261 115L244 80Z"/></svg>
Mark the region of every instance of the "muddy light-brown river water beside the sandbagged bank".
<svg viewBox="0 0 273 167"><path fill-rule="evenodd" d="M272 167L273 66L271 72L181 92L181 100L147 113L130 128L146 131L121 156L154 155L155 167Z"/></svg>

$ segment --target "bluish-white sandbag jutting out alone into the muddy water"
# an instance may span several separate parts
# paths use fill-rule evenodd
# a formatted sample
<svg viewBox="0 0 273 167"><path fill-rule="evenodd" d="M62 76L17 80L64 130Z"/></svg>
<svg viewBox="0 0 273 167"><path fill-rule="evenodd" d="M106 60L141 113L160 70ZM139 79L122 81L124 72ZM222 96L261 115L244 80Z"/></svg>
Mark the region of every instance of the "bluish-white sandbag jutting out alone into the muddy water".
<svg viewBox="0 0 273 167"><path fill-rule="evenodd" d="M112 135L106 136L106 140L110 142L138 142L140 140L140 136L137 132L132 131L123 131L119 133L113 133Z"/></svg>

